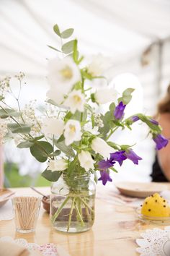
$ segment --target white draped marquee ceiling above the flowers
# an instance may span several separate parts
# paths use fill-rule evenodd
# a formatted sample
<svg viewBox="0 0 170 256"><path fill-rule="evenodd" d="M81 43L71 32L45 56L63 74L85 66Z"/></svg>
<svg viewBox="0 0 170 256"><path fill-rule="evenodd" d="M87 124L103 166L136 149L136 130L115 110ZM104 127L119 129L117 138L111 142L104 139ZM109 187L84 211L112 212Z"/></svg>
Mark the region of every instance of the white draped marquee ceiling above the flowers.
<svg viewBox="0 0 170 256"><path fill-rule="evenodd" d="M0 73L45 75L47 45L59 47L53 25L74 27L82 54L116 64L170 35L169 0L1 0Z"/></svg>

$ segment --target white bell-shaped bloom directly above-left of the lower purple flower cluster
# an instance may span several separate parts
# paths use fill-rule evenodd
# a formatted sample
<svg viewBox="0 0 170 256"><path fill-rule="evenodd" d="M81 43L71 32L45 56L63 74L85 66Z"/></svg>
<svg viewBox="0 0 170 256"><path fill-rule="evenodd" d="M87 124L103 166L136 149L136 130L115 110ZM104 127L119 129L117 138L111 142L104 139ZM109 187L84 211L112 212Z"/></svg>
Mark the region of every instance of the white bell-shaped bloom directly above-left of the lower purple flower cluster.
<svg viewBox="0 0 170 256"><path fill-rule="evenodd" d="M91 148L96 152L102 155L104 158L109 158L109 154L115 152L115 150L110 147L107 142L102 140L99 137L96 137L91 142Z"/></svg>

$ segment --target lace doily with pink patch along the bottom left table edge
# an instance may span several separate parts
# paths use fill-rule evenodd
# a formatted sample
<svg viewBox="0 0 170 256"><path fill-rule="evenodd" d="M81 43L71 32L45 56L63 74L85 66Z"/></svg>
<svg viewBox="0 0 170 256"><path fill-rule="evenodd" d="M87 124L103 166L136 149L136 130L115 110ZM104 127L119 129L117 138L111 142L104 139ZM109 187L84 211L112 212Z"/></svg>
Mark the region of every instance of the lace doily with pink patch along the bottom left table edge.
<svg viewBox="0 0 170 256"><path fill-rule="evenodd" d="M36 249L39 250L42 255L45 256L70 256L61 246L55 246L55 244L42 244L38 245L35 243L28 243L25 239L12 239L10 236L4 236L0 238L0 242L12 242L19 244L22 247L27 248L30 252L34 252Z"/></svg>

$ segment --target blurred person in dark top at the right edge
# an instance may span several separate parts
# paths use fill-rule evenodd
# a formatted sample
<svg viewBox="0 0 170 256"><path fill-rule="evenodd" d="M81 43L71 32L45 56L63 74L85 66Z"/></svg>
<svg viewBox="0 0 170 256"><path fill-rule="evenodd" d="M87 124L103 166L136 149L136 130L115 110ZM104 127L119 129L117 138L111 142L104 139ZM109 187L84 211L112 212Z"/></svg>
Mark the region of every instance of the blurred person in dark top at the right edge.
<svg viewBox="0 0 170 256"><path fill-rule="evenodd" d="M165 97L158 103L156 117L162 127L162 135L170 138L170 85ZM170 182L170 143L156 152L156 159L152 168L153 182Z"/></svg>

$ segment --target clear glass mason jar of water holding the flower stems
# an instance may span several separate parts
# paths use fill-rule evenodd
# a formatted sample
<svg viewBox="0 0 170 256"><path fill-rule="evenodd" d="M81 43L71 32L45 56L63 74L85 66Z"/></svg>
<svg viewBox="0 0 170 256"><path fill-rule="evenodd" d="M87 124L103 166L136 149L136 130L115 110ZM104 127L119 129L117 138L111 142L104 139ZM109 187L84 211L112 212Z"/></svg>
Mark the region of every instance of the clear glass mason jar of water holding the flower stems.
<svg viewBox="0 0 170 256"><path fill-rule="evenodd" d="M54 229L79 233L94 223L95 182L89 174L68 179L62 175L51 185L50 221Z"/></svg>

